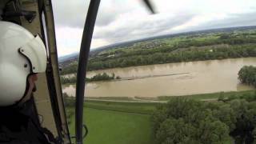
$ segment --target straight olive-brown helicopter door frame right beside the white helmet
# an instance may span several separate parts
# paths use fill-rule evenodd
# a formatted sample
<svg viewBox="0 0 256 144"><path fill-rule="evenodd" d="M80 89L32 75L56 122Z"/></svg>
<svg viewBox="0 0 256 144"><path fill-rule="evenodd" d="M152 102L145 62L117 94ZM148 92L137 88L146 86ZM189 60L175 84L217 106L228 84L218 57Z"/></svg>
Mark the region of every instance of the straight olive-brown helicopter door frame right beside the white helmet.
<svg viewBox="0 0 256 144"><path fill-rule="evenodd" d="M58 71L58 54L54 30L54 14L50 0L38 0L39 19L41 23L42 39L48 45L48 64L46 78L50 93L50 102L54 113L54 120L59 137L65 143L71 143L70 132L66 121L66 110L62 97L62 86Z"/></svg>

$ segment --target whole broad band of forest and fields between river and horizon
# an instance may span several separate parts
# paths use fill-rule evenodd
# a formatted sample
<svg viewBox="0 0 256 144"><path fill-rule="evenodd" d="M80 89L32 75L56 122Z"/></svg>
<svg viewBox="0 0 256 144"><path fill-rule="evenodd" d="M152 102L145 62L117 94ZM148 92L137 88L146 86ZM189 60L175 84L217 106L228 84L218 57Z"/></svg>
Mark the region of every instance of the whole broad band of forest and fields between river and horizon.
<svg viewBox="0 0 256 144"><path fill-rule="evenodd" d="M134 43L133 46L103 50L90 57L87 70L255 56L254 31L195 34L154 39ZM77 66L77 62L65 66L62 74L74 73Z"/></svg>

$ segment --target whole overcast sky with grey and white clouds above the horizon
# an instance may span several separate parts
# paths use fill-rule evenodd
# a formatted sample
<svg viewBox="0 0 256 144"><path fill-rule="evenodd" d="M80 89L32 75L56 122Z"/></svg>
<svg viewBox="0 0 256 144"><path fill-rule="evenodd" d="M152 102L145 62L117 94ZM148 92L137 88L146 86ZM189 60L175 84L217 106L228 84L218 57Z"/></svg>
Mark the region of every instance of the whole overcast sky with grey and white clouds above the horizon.
<svg viewBox="0 0 256 144"><path fill-rule="evenodd" d="M102 0L92 49L162 34L256 25L256 0ZM89 0L53 1L58 56L78 52Z"/></svg>

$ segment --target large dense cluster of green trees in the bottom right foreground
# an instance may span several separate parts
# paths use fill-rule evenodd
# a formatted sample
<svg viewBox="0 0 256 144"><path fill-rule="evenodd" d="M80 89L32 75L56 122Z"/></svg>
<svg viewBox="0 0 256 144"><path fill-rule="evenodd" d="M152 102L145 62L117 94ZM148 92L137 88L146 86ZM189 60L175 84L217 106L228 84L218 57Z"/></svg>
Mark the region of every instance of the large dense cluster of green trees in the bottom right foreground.
<svg viewBox="0 0 256 144"><path fill-rule="evenodd" d="M255 94L254 94L255 100ZM155 111L154 136L158 143L253 143L256 102L200 102L172 98Z"/></svg>

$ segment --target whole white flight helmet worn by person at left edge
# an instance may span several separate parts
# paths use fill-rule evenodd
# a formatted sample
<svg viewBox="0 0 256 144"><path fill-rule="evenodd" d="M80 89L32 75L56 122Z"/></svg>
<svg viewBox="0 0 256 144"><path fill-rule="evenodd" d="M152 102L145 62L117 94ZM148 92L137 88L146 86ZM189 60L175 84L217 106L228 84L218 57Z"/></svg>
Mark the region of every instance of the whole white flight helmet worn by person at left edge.
<svg viewBox="0 0 256 144"><path fill-rule="evenodd" d="M0 106L18 103L30 74L46 70L46 47L22 26L0 21Z"/></svg>

